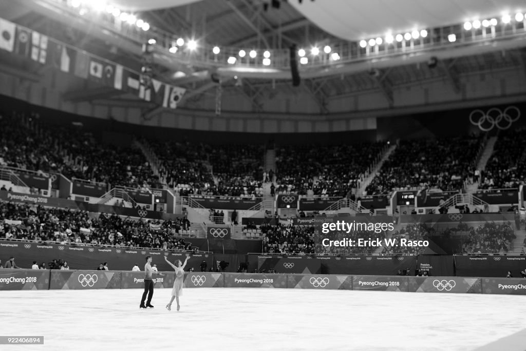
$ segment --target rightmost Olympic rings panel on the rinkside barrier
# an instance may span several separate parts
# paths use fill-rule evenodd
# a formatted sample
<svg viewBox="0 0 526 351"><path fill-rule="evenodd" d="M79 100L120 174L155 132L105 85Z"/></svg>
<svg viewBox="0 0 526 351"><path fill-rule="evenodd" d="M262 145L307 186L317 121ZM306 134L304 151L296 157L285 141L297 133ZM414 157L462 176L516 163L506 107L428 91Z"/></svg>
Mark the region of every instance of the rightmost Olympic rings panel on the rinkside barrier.
<svg viewBox="0 0 526 351"><path fill-rule="evenodd" d="M480 278L462 277L411 277L410 293L471 293L481 294Z"/></svg>

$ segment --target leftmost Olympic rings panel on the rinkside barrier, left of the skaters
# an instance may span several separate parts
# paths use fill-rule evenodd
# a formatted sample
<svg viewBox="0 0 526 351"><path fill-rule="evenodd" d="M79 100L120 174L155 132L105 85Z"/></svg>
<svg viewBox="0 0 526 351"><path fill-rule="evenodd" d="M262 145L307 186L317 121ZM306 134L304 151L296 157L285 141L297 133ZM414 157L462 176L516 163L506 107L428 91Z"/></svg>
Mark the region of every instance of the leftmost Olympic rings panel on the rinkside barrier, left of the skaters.
<svg viewBox="0 0 526 351"><path fill-rule="evenodd" d="M119 289L120 272L51 271L50 290Z"/></svg>

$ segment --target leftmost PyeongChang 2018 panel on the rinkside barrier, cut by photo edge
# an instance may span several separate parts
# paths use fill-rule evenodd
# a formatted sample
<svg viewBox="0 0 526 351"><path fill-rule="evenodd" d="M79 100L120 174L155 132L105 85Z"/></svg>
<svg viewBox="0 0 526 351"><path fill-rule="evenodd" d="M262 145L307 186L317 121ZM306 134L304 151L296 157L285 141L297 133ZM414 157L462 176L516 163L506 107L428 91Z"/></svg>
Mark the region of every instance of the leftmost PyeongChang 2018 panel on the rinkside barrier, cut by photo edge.
<svg viewBox="0 0 526 351"><path fill-rule="evenodd" d="M0 290L47 290L48 270L0 269Z"/></svg>

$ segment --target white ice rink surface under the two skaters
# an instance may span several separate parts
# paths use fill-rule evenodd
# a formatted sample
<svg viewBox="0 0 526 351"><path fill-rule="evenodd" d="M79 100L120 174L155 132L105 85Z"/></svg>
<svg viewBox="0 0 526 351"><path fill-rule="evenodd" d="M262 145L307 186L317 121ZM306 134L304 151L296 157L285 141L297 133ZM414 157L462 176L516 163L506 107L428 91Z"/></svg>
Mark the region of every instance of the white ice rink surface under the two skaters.
<svg viewBox="0 0 526 351"><path fill-rule="evenodd" d="M526 296L186 288L0 292L0 350L472 350L526 328ZM525 345L526 348L526 345ZM505 351L506 348L500 348Z"/></svg>

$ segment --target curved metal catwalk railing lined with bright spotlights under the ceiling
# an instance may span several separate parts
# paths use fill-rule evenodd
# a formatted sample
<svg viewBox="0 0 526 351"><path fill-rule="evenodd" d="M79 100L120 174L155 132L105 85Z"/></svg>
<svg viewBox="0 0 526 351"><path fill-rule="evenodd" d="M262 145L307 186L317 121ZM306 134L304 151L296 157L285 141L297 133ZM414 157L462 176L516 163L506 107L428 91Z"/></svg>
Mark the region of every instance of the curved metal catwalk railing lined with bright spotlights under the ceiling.
<svg viewBox="0 0 526 351"><path fill-rule="evenodd" d="M190 50L187 47L178 47L176 41L180 37L189 37L190 33L169 33L160 28L150 26L149 30L144 31L135 24L128 24L126 21L120 20L106 11L95 12L88 11L86 7L74 8L70 6L67 0L42 0L46 5L55 7L64 12L65 15L82 19L88 23L93 23L98 27L102 27L110 32L117 32L118 35L124 38L144 44L149 39L156 40L156 48L162 51L163 54L173 57L174 61L181 64L194 64L206 67L259 67L265 68L269 71L273 69L289 70L290 56L288 49L275 49L268 47L255 48L257 56L251 58L249 55L250 48L246 50L246 56L240 57L239 47L221 47L218 54L213 53L213 45L206 43L198 43L195 50ZM85 13L81 16L79 11ZM496 16L500 18L501 16ZM300 66L305 69L312 67L323 67L329 65L337 65L341 63L352 63L362 61L370 58L386 58L389 56L400 56L407 54L421 53L422 51L435 50L441 48L456 48L472 44L487 42L494 39L508 39L518 37L526 33L526 28L523 22L511 21L510 23L503 23L497 20L492 22L488 27L480 27L478 29L464 30L462 24L449 25L434 28L420 28L426 31L426 36L419 34L417 38L411 36L411 33L398 33L401 35L400 40L382 40L382 43L377 45L360 44L360 42L347 42L344 40L327 43L331 47L330 53L326 54L320 49L319 55L307 54L305 57L308 60L307 64ZM422 32L420 32L422 33ZM408 35L409 34L409 35ZM393 35L397 35L394 33ZM454 39L453 36L454 35ZM371 38L363 38L371 39ZM453 40L452 40L453 39ZM175 53L170 51L170 48L176 47ZM172 49L174 50L174 49ZM264 64L262 51L267 50L270 54L268 65ZM333 55L337 54L337 55ZM228 59L230 57L236 58L235 65L229 65Z"/></svg>

